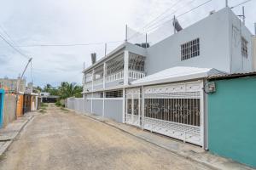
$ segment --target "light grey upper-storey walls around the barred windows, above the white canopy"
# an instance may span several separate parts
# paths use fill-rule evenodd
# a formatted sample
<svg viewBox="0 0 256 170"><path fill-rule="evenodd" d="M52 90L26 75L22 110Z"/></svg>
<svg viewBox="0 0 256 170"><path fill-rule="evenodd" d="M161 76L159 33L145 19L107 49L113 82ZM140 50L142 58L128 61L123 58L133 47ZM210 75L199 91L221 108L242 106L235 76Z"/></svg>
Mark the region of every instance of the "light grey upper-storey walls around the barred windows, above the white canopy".
<svg viewBox="0 0 256 170"><path fill-rule="evenodd" d="M230 8L224 8L148 48L145 66L147 74L150 75L173 66L208 67L225 72L251 71L252 66L249 63L252 53L249 51L248 59L242 60L241 37L236 39L238 41L236 48L231 46L231 41L235 41L235 38L232 38L232 26L236 26L239 29L238 33L247 38L248 48L250 48L251 33L240 23ZM181 44L198 37L201 54L182 61Z"/></svg>

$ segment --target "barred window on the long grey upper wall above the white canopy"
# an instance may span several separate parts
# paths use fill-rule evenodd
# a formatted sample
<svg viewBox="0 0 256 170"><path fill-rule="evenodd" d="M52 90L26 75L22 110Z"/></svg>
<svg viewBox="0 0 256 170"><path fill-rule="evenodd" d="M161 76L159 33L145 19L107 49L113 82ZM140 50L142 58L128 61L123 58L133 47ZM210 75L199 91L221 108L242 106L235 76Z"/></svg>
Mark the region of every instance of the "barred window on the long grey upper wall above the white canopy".
<svg viewBox="0 0 256 170"><path fill-rule="evenodd" d="M191 59L200 55L199 38L181 45L181 60Z"/></svg>

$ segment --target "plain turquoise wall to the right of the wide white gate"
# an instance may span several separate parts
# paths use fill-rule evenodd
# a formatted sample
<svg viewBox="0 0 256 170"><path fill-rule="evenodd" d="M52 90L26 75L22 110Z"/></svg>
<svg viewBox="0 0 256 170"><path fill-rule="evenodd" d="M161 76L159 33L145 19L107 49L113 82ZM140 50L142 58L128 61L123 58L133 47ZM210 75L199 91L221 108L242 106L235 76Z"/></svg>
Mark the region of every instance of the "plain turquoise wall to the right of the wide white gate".
<svg viewBox="0 0 256 170"><path fill-rule="evenodd" d="M218 80L208 95L209 150L256 167L256 77Z"/></svg>

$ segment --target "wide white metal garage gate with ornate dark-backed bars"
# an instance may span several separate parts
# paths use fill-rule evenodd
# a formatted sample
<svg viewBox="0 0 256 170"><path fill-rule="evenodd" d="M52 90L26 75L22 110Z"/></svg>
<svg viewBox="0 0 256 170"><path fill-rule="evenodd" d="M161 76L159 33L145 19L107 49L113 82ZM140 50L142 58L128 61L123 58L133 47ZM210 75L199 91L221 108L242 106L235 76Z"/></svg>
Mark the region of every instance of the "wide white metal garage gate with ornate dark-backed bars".
<svg viewBox="0 0 256 170"><path fill-rule="evenodd" d="M143 128L203 145L202 81L143 88Z"/></svg>

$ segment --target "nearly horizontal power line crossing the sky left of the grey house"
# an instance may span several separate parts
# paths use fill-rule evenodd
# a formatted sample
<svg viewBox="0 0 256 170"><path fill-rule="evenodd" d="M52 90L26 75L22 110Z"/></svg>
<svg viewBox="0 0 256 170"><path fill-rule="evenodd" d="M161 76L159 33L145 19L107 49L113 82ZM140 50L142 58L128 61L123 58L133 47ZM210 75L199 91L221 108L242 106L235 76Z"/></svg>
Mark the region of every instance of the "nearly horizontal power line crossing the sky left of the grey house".
<svg viewBox="0 0 256 170"><path fill-rule="evenodd" d="M16 47L26 48L26 47L70 47L70 46L89 46L89 45L101 45L105 43L115 43L115 42L124 42L114 41L114 42L89 42L89 43L67 43L67 44L32 44L32 45L19 45Z"/></svg>

